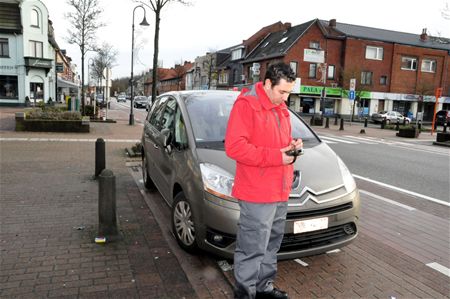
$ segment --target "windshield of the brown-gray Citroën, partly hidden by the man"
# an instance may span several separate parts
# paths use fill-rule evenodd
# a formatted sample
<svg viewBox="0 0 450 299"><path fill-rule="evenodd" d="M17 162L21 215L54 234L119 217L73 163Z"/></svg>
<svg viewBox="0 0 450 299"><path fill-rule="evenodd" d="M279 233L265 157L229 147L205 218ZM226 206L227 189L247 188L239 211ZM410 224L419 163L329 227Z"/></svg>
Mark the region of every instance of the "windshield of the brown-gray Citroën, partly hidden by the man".
<svg viewBox="0 0 450 299"><path fill-rule="evenodd" d="M186 109L198 147L223 149L228 117L238 93L200 93L185 98ZM292 137L310 146L319 142L316 135L290 112Z"/></svg>

